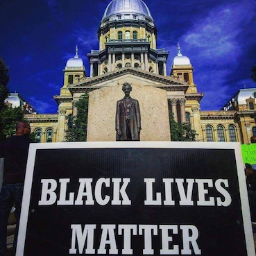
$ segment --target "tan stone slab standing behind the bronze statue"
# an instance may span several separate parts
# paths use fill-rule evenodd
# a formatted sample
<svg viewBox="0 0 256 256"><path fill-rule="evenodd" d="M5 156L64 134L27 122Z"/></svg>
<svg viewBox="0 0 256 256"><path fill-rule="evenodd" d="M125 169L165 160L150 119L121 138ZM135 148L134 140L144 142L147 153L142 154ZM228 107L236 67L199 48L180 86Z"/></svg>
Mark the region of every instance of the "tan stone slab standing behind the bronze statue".
<svg viewBox="0 0 256 256"><path fill-rule="evenodd" d="M139 101L142 117L141 141L170 141L167 92L144 85L132 85L130 96ZM87 142L114 142L117 101L123 99L122 85L89 93Z"/></svg>

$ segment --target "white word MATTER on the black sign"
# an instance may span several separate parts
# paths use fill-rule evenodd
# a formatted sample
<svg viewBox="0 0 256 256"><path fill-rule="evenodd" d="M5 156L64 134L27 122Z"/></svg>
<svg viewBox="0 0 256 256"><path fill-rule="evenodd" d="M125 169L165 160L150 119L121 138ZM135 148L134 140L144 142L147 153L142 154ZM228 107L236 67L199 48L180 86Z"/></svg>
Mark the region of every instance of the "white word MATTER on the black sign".
<svg viewBox="0 0 256 256"><path fill-rule="evenodd" d="M115 230L117 229L117 232ZM85 224L83 230L82 225L71 225L72 237L71 248L69 254L90 254L90 255L133 255L132 239L135 236L144 235L144 249L142 252L135 252L135 255L154 255L152 239L153 236L162 236L162 247L160 255L191 255L194 250L195 255L201 255L201 250L198 247L198 229L194 225L126 225L126 224L102 224L101 225L101 241L99 247L95 248L94 231L96 224ZM159 231L160 230L160 231ZM173 244L173 237L170 235L179 234L182 232L182 248L178 244ZM117 248L116 234L123 235L123 248ZM85 246L86 244L86 246ZM77 247L76 247L77 245ZM106 248L108 246L108 249ZM78 252L77 252L78 250ZM120 250L120 251L119 251ZM85 253L83 253L85 251ZM107 252L108 251L108 252ZM157 252L156 252L157 253ZM157 254L159 254L157 253Z"/></svg>

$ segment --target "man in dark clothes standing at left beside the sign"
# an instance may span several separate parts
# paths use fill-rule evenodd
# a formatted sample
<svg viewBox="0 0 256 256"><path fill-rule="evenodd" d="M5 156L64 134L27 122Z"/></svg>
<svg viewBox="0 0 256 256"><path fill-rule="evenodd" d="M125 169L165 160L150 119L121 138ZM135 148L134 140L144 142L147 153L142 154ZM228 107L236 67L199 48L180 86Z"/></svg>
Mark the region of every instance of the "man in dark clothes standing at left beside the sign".
<svg viewBox="0 0 256 256"><path fill-rule="evenodd" d="M16 136L12 136L0 144L0 158L4 158L3 186L0 191L0 256L7 255L8 216L14 203L17 220L14 248L16 246L28 148L32 142L29 139L31 127L28 123L20 121L15 128Z"/></svg>

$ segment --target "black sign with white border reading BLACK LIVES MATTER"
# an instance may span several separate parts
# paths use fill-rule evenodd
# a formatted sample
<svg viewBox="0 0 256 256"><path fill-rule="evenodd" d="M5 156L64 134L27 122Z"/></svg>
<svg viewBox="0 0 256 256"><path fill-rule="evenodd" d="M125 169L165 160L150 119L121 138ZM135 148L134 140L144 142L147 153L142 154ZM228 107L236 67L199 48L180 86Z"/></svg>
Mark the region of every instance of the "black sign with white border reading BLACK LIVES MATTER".
<svg viewBox="0 0 256 256"><path fill-rule="evenodd" d="M239 144L32 145L17 255L254 255L240 162Z"/></svg>

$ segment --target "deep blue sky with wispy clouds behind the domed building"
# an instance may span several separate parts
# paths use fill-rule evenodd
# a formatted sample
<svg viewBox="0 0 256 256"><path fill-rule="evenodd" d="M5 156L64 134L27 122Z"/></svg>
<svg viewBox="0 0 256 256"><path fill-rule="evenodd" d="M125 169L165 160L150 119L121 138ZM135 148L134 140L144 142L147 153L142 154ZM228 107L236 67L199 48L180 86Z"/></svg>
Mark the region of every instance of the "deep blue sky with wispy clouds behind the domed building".
<svg viewBox="0 0 256 256"><path fill-rule="evenodd" d="M110 0L1 0L0 57L9 67L11 92L40 113L56 113L53 95L62 69L75 55L99 49L97 30ZM255 0L145 0L158 30L157 48L169 51L168 74L180 42L194 67L201 110L219 110L237 89L256 87Z"/></svg>

